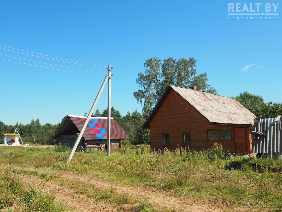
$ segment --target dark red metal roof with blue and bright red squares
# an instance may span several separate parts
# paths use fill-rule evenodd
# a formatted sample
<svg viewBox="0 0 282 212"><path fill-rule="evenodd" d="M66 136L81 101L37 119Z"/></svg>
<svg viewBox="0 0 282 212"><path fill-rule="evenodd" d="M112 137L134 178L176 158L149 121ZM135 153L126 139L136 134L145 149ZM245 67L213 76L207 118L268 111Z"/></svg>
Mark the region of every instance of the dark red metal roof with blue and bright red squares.
<svg viewBox="0 0 282 212"><path fill-rule="evenodd" d="M68 115L65 119L65 122L58 130L57 135L63 133L63 130L67 127L67 125L72 123L77 127L79 131L81 131L86 118L86 116ZM106 117L91 117L83 133L83 138L85 140L107 139L107 120L108 119ZM116 123L113 118L111 118L111 139L128 138L129 137L124 132L124 130Z"/></svg>

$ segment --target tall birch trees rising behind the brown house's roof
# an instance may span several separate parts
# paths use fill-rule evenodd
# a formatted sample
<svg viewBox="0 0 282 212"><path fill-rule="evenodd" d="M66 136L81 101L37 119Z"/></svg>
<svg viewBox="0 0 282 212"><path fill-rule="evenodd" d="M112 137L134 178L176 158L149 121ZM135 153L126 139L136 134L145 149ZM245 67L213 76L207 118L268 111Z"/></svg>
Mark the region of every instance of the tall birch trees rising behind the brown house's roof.
<svg viewBox="0 0 282 212"><path fill-rule="evenodd" d="M144 62L145 73L138 72L136 79L140 89L133 92L137 103L143 105L143 113L149 115L167 85L197 86L200 90L217 94L215 88L208 84L207 73L196 75L196 63L193 58L176 60L170 57L163 62L156 57L147 59Z"/></svg>

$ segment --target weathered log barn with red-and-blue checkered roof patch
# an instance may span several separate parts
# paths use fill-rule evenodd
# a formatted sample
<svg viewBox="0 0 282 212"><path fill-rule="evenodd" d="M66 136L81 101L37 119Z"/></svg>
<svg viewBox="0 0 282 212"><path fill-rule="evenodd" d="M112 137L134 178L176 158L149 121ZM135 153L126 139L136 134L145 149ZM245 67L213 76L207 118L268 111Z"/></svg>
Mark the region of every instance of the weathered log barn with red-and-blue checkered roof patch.
<svg viewBox="0 0 282 212"><path fill-rule="evenodd" d="M67 115L65 121L55 135L56 144L73 147L78 134L86 120L86 116ZM78 144L81 150L107 149L107 117L91 117ZM124 130L111 118L111 150L121 147L122 139L129 138Z"/></svg>

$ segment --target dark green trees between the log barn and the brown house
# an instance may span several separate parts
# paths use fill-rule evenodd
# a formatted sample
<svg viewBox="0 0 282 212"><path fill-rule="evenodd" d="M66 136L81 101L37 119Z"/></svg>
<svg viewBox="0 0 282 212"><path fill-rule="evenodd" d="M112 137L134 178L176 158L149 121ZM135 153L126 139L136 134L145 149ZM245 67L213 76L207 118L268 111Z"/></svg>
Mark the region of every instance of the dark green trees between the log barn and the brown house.
<svg viewBox="0 0 282 212"><path fill-rule="evenodd" d="M107 117L107 115L107 108L102 112L97 109L96 112L92 114L92 117ZM87 116L87 113L85 113L84 116ZM129 136L128 141L131 142L131 144L150 144L150 130L141 129L147 119L147 116L144 113L141 114L135 110L132 113L128 111L125 116L122 116L118 110L112 107L111 117L114 118L116 123L118 123Z"/></svg>

